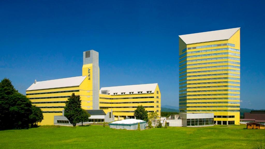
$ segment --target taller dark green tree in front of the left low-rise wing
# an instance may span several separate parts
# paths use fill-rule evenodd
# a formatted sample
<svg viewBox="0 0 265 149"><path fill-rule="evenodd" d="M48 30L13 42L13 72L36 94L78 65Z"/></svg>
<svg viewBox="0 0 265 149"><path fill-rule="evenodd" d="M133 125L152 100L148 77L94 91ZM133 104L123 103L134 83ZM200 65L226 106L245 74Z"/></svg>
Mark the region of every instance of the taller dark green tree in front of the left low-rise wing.
<svg viewBox="0 0 265 149"><path fill-rule="evenodd" d="M76 96L73 93L65 102L64 116L67 117L67 119L73 126L76 126L76 124L81 122L82 120L81 115L82 108L80 96Z"/></svg>

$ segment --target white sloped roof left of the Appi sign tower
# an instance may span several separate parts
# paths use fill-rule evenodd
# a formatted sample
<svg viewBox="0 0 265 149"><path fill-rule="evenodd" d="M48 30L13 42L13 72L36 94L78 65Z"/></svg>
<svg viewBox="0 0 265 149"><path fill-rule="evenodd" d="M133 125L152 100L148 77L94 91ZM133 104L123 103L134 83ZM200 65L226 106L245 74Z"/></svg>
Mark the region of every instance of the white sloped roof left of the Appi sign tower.
<svg viewBox="0 0 265 149"><path fill-rule="evenodd" d="M70 86L79 86L86 76L62 78L55 80L39 81L36 84L32 84L26 91L29 90L40 90L40 89L52 89L58 87L70 87Z"/></svg>

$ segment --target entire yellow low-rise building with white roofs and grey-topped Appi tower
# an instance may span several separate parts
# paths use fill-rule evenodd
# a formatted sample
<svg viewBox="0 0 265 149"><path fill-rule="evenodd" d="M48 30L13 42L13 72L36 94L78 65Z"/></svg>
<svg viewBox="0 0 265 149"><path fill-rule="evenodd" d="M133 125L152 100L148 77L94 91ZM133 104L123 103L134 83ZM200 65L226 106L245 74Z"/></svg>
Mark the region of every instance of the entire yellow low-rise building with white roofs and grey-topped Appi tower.
<svg viewBox="0 0 265 149"><path fill-rule="evenodd" d="M53 125L54 116L62 116L65 101L72 93L80 95L83 109L113 111L116 120L134 118L138 105L143 105L148 112L159 113L161 109L158 84L103 87L99 91L99 54L94 50L83 52L82 76L35 80L26 90L26 96L43 111L41 125Z"/></svg>

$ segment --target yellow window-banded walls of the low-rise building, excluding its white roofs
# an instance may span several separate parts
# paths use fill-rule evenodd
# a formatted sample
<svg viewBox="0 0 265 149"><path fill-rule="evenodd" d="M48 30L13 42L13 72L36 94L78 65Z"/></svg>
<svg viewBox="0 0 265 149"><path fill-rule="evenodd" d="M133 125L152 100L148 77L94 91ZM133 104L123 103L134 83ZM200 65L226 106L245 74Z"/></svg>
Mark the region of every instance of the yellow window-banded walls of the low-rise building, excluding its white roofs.
<svg viewBox="0 0 265 149"><path fill-rule="evenodd" d="M91 52L88 58L90 58L90 56L93 57L92 54L93 53L95 54L95 52L96 51ZM84 57L84 59L85 58L87 57ZM84 60L84 63L89 63L89 62ZM95 69L95 67L97 67L97 69ZM93 85L95 86L99 85L99 75L98 79L97 75L94 75L96 79L93 79L93 70L94 73L95 71L99 71L97 64L96 65L92 63L84 64L82 67L82 76L86 77L77 86L57 87L57 88L46 87L44 89L26 90L26 96L32 101L34 105L40 107L43 111L44 119L42 120L40 125L53 125L54 116L62 116L62 111L65 106L65 101L67 101L67 99L72 95L72 93L75 93L75 95L80 95L81 106L83 109L86 110L104 109L105 113L111 112L112 109L113 115L115 115L116 117L120 116L120 119L123 119L124 117L133 116L133 112L131 111L134 111L136 109L135 107L138 105L143 105L145 107L148 107L145 109L149 112L151 111L158 112L160 114L161 94L158 85L153 93L148 93L148 94L144 93L130 94L130 95L95 94L95 88L93 88ZM99 74L99 72L95 74ZM152 97L152 98L136 98L136 97ZM103 98L109 98L109 99L103 99ZM113 98L130 98L130 99L113 99ZM128 103L128 102L134 102L134 103Z"/></svg>

